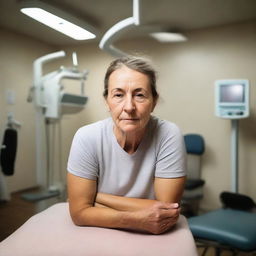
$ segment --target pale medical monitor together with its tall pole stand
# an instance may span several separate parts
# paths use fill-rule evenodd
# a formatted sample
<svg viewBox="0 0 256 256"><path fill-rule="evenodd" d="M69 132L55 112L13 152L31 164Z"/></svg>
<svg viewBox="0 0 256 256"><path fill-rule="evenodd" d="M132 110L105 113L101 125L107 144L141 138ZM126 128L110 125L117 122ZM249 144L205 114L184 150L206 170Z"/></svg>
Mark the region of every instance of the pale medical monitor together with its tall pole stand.
<svg viewBox="0 0 256 256"><path fill-rule="evenodd" d="M238 120L249 116L249 81L217 80L215 114L221 118L231 119L232 191L238 193Z"/></svg>

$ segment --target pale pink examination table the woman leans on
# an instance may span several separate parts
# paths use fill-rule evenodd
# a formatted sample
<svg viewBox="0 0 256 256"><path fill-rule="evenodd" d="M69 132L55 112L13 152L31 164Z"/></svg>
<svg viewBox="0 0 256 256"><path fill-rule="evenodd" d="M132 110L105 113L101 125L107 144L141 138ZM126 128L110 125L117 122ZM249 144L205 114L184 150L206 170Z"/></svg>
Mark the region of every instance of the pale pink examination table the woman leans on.
<svg viewBox="0 0 256 256"><path fill-rule="evenodd" d="M162 235L75 226L68 203L34 215L0 243L1 256L196 256L186 218Z"/></svg>

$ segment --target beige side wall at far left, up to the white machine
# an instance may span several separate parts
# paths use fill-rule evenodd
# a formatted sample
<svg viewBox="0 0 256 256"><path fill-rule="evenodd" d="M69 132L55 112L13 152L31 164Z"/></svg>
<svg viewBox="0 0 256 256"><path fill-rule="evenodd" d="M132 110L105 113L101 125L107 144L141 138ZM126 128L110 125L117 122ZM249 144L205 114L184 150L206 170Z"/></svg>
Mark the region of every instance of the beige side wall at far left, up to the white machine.
<svg viewBox="0 0 256 256"><path fill-rule="evenodd" d="M10 191L35 186L35 120L34 108L27 103L32 85L32 62L53 47L32 38L0 29L0 137L7 122L8 113L22 126L18 130L18 151L15 175L7 178ZM15 97L13 105L7 104L6 94Z"/></svg>

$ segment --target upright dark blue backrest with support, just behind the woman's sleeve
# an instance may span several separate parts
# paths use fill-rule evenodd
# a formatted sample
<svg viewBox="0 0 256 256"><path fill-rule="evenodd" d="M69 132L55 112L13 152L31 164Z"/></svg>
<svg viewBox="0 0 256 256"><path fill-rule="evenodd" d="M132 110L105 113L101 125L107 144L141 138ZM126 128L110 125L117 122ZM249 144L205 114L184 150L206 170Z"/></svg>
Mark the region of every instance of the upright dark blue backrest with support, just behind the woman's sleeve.
<svg viewBox="0 0 256 256"><path fill-rule="evenodd" d="M201 178L201 155L205 151L204 138L199 134L186 134L184 136L187 151L187 178Z"/></svg>

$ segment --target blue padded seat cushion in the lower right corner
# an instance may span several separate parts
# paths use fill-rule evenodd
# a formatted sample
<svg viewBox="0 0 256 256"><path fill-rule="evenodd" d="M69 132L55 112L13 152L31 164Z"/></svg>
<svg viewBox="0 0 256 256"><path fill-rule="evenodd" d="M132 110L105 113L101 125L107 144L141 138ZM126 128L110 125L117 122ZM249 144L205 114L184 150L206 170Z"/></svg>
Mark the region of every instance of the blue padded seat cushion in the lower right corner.
<svg viewBox="0 0 256 256"><path fill-rule="evenodd" d="M195 238L243 251L256 250L256 213L219 209L188 219Z"/></svg>

